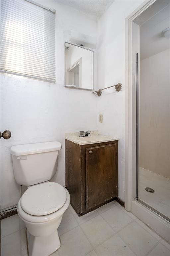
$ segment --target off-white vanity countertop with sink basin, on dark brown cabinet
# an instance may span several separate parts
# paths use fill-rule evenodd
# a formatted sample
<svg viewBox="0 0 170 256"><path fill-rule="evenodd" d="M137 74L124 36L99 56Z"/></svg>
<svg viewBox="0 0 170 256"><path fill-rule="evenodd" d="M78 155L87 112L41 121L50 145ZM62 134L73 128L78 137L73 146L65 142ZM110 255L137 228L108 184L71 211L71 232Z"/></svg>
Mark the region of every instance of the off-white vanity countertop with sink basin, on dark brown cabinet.
<svg viewBox="0 0 170 256"><path fill-rule="evenodd" d="M91 131L91 136L87 136L87 137L79 137L79 134L80 134L79 132L65 133L65 139L70 140L79 145L119 140L119 138L117 137L98 134L97 130Z"/></svg>

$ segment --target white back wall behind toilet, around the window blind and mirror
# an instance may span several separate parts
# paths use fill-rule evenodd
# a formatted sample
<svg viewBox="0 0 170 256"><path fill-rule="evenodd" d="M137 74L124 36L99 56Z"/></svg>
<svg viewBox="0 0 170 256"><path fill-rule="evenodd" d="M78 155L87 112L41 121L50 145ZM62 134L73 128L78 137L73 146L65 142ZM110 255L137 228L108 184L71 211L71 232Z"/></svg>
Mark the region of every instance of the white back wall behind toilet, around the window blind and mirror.
<svg viewBox="0 0 170 256"><path fill-rule="evenodd" d="M0 141L1 210L15 205L20 186L13 176L12 145L57 140L62 143L54 181L65 184L65 132L96 129L96 97L91 91L64 88L64 41L70 30L96 36L94 20L55 1L37 1L56 9L56 84L20 76L0 74L1 131L11 130L9 140Z"/></svg>

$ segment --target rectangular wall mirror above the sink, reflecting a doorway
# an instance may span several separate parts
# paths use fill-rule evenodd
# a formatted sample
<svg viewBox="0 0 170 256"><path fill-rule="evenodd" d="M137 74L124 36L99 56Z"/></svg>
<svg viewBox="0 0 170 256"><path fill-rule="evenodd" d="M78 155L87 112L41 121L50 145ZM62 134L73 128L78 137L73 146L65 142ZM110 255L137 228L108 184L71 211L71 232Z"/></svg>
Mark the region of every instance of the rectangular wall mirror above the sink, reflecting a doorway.
<svg viewBox="0 0 170 256"><path fill-rule="evenodd" d="M93 90L93 51L65 42L65 86Z"/></svg>

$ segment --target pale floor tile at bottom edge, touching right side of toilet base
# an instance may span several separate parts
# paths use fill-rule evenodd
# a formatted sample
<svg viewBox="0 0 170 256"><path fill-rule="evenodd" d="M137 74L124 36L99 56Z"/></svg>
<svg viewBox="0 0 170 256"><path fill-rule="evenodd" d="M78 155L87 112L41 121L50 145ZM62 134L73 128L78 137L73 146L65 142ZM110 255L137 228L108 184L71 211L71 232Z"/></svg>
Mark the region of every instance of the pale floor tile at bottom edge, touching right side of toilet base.
<svg viewBox="0 0 170 256"><path fill-rule="evenodd" d="M60 256L85 256L93 250L81 228L78 226L60 236Z"/></svg>

